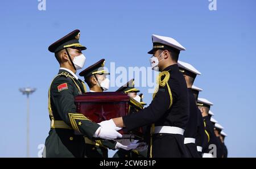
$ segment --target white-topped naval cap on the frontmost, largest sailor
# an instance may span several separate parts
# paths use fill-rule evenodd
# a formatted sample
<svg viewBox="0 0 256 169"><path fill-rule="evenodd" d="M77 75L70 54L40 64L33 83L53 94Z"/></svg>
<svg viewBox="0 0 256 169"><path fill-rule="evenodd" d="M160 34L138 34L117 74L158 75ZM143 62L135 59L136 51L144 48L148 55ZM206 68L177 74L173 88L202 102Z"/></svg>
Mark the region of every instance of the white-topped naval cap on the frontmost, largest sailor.
<svg viewBox="0 0 256 169"><path fill-rule="evenodd" d="M159 35L152 35L152 43L153 48L148 52L149 54L154 54L156 49L164 49L164 45L167 47L172 47L177 50L186 50L180 43L178 43L175 39L167 36L159 36Z"/></svg>

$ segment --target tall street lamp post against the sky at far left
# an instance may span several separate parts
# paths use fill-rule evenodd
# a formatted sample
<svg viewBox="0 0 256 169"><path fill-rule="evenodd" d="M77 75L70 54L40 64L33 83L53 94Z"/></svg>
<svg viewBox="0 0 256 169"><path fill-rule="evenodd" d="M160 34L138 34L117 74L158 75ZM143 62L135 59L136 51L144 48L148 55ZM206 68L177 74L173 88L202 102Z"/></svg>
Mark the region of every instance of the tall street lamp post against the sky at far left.
<svg viewBox="0 0 256 169"><path fill-rule="evenodd" d="M36 91L36 88L19 88L23 95L27 95L27 157L30 157L30 94Z"/></svg>

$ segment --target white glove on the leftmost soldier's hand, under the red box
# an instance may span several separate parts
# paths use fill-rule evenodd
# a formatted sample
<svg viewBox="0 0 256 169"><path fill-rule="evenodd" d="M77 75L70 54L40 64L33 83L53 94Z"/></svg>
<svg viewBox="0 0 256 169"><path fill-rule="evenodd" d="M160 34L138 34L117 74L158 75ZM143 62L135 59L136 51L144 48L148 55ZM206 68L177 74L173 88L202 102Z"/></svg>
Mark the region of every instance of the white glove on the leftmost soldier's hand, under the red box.
<svg viewBox="0 0 256 169"><path fill-rule="evenodd" d="M118 133L114 128L100 126L97 137L104 138L106 140L114 140L115 138L121 138L122 134Z"/></svg>

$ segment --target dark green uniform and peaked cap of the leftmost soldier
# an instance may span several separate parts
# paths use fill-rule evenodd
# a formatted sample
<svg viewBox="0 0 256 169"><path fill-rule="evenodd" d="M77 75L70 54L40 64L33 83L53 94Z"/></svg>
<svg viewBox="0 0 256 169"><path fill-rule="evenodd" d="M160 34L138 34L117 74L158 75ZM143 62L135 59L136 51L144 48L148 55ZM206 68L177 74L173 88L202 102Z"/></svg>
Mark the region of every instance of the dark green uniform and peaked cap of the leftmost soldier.
<svg viewBox="0 0 256 169"><path fill-rule="evenodd" d="M75 30L50 45L48 49L53 53L62 49L68 51L67 48L85 50L79 43L79 36L80 31ZM46 157L84 157L84 135L92 138L100 127L84 115L76 113L75 96L84 92L83 82L70 70L60 69L53 79L48 91L51 129L45 143Z"/></svg>

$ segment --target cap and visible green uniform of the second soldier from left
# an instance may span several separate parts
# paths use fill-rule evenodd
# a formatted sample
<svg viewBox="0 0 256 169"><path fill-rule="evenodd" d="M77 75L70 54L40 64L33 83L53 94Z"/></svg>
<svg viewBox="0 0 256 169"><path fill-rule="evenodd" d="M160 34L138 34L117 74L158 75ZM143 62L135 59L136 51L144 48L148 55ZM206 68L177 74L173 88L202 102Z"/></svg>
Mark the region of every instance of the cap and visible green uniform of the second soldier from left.
<svg viewBox="0 0 256 169"><path fill-rule="evenodd" d="M109 75L108 72L104 70L105 59L102 59L96 64L93 64L87 67L85 70L81 71L79 75L84 77L85 82L86 79L92 75L100 74L100 75ZM97 77L96 77L97 79ZM86 82L89 83L89 82ZM88 84L88 86L90 86ZM117 142L112 140L90 140L88 137L85 137L85 156L86 157L98 157L98 158L108 158L108 148L115 150L115 145Z"/></svg>

